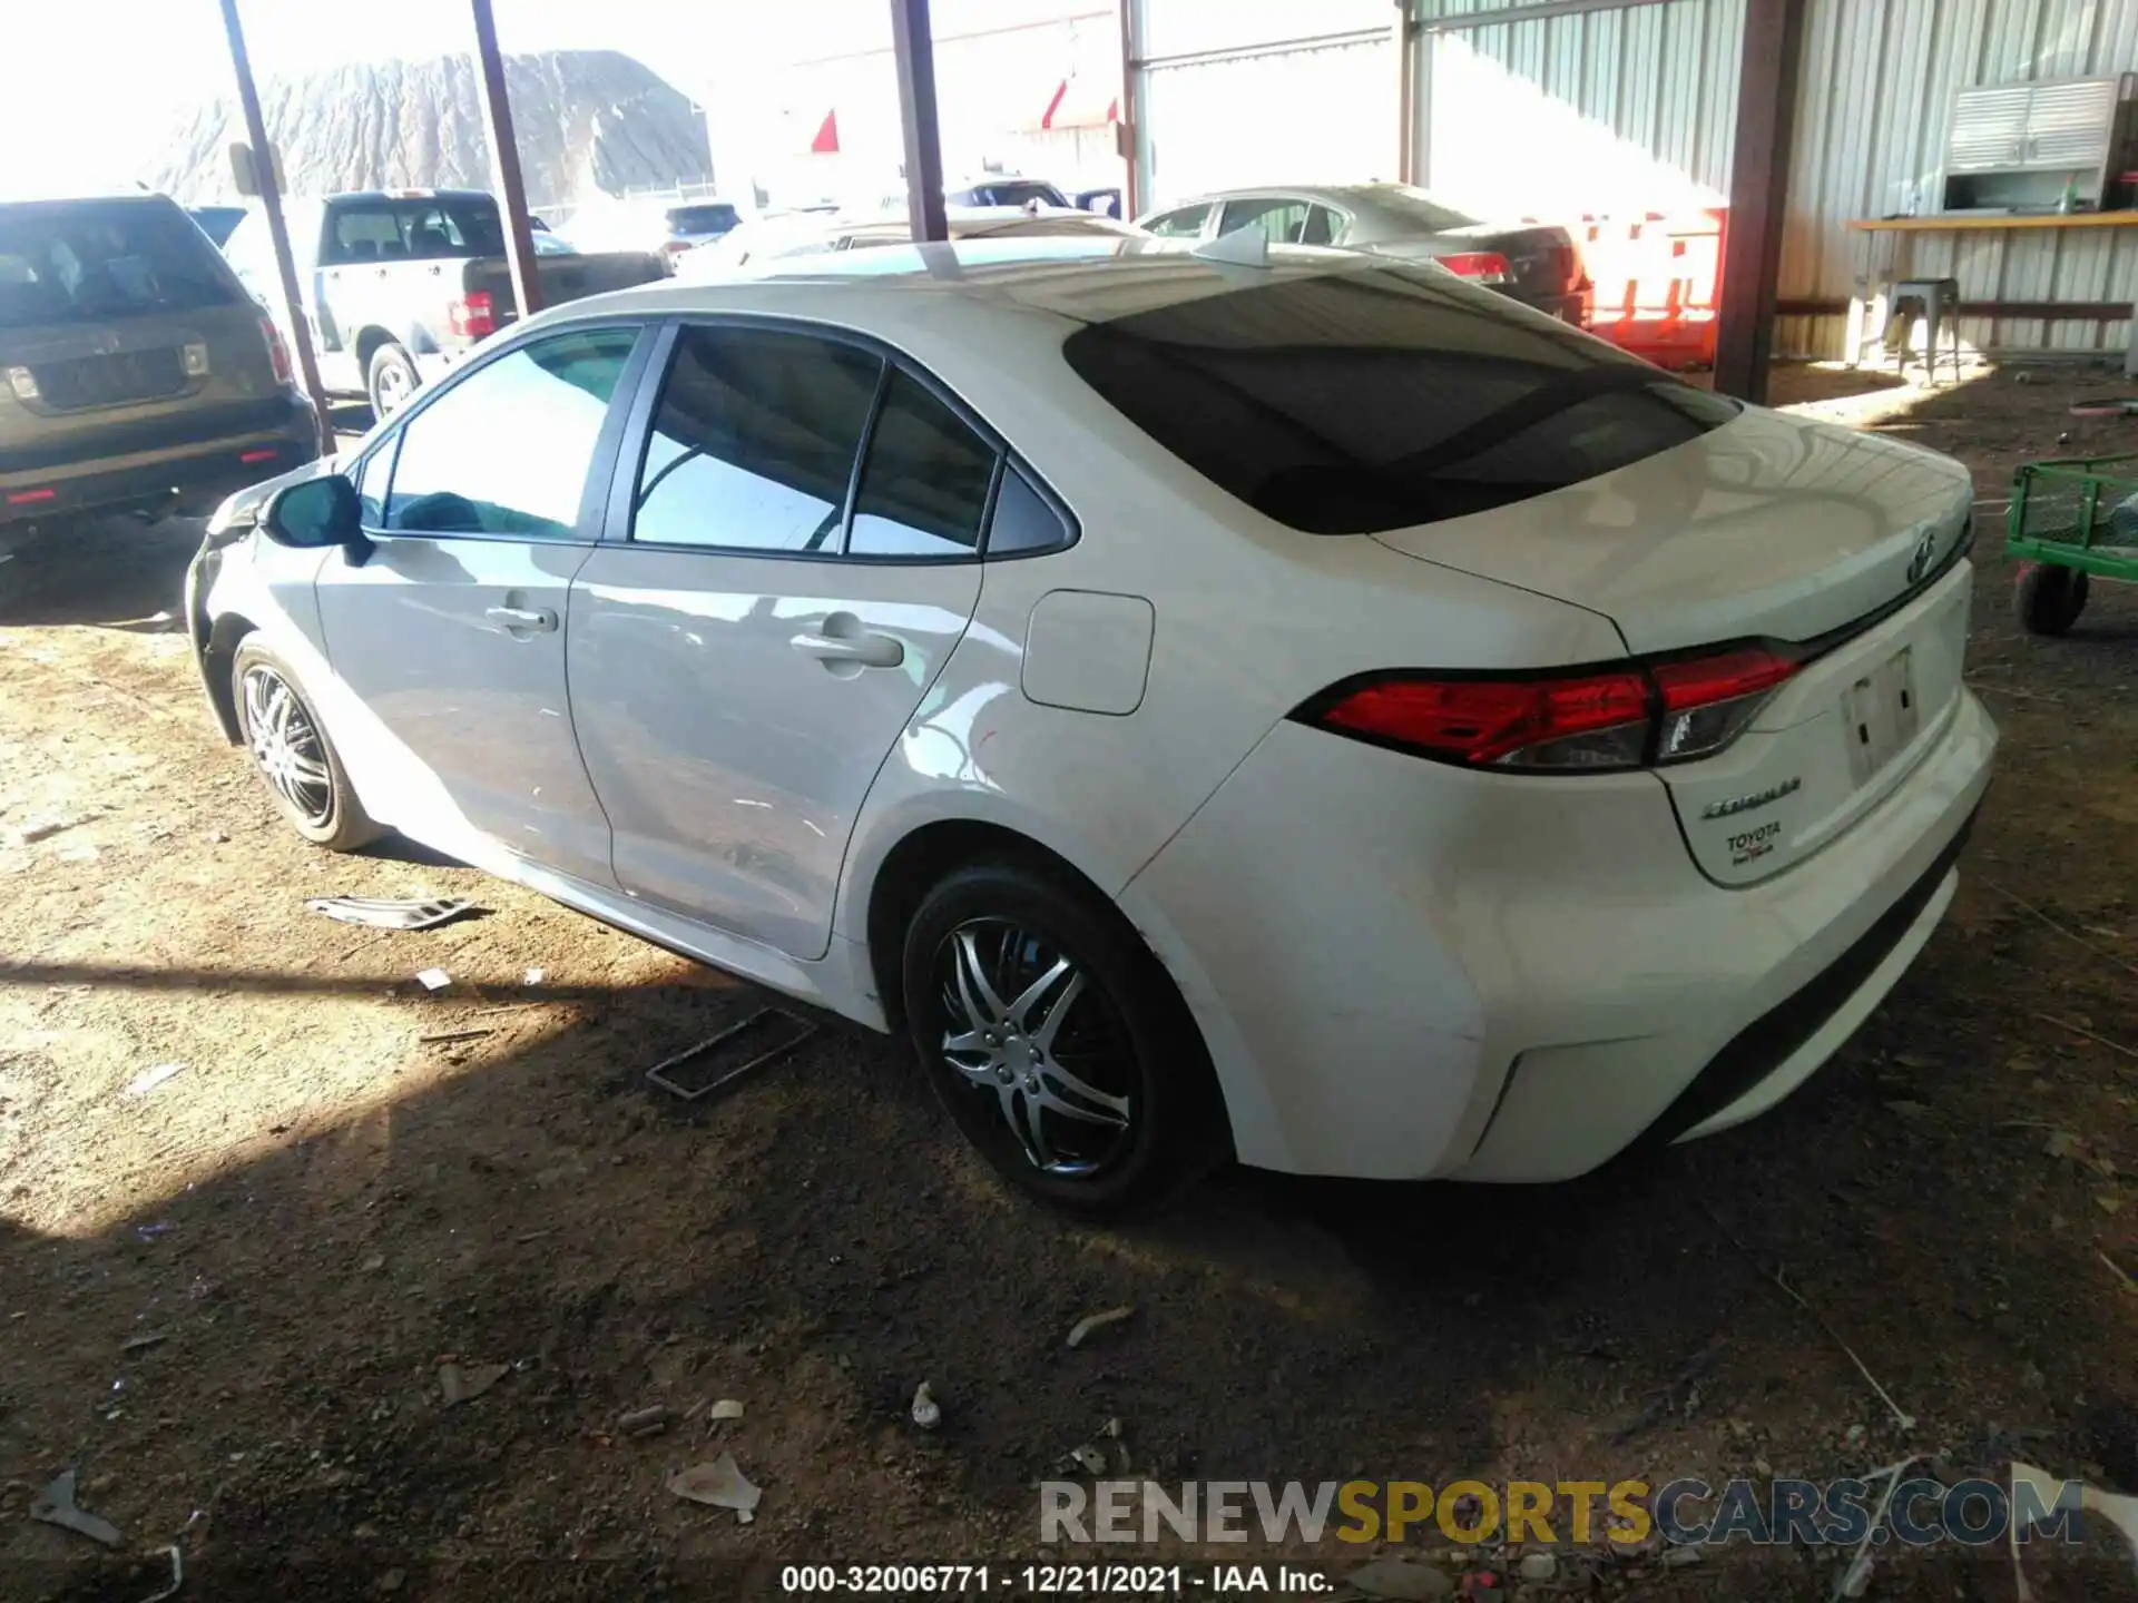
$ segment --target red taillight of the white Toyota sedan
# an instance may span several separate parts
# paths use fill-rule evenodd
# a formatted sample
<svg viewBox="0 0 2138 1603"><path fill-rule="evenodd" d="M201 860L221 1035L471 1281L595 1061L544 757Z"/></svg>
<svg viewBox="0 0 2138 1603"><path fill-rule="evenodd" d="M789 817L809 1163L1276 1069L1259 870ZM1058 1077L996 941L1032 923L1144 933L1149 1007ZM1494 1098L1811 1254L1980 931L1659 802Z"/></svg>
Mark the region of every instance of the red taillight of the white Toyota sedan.
<svg viewBox="0 0 2138 1603"><path fill-rule="evenodd" d="M1467 767L1593 772L1708 757L1792 673L1796 663L1762 645L1567 678L1398 673L1300 716Z"/></svg>

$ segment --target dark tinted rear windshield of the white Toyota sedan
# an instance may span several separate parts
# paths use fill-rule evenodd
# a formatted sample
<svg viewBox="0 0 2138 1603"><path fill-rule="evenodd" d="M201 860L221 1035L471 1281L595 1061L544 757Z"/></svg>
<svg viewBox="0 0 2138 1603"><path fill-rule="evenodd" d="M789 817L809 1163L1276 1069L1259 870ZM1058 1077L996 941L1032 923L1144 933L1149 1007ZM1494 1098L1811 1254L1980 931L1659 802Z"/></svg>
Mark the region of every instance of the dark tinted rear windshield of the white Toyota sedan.
<svg viewBox="0 0 2138 1603"><path fill-rule="evenodd" d="M1063 355L1199 474L1311 534L1529 500L1736 417L1736 402L1428 267L1176 301L1086 325Z"/></svg>

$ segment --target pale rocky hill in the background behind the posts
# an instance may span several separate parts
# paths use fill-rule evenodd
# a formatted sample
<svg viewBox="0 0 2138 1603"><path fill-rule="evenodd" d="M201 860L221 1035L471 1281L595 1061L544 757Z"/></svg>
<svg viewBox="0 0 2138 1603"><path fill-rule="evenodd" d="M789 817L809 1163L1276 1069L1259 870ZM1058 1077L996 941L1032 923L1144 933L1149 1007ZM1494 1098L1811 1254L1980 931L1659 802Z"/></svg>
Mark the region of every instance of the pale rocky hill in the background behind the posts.
<svg viewBox="0 0 2138 1603"><path fill-rule="evenodd" d="M507 56L505 83L537 205L712 177L703 118L629 56ZM481 77L470 56L263 79L261 113L293 194L490 188ZM235 98L212 100L162 143L169 156L150 184L188 203L237 199L229 145L242 139Z"/></svg>

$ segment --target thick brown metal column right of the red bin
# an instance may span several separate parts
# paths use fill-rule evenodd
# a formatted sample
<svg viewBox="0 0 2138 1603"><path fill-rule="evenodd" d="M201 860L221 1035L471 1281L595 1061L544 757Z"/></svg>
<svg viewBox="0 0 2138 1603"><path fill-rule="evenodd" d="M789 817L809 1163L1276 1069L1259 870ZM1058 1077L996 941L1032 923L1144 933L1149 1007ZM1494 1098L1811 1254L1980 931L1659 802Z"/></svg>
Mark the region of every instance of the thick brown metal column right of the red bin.
<svg viewBox="0 0 2138 1603"><path fill-rule="evenodd" d="M1766 368L1775 351L1775 286L1790 203L1804 9L1807 0L1747 0L1745 6L1730 227L1715 316L1715 389L1749 402L1766 400Z"/></svg>

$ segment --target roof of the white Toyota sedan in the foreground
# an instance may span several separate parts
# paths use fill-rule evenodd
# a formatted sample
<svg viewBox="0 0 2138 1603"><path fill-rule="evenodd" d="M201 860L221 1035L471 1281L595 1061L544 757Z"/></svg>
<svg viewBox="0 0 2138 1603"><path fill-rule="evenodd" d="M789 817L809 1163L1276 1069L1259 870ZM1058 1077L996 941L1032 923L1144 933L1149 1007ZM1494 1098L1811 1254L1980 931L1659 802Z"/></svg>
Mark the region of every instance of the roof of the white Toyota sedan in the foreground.
<svg viewBox="0 0 2138 1603"><path fill-rule="evenodd" d="M1370 256L1311 246L1274 246L1268 265L1240 267L1199 256L1180 242L1144 237L930 242L776 259L725 278L641 284L569 301L526 327L622 312L783 312L889 331L919 323L941 327L943 308L958 301L1039 321L1110 323L1244 284L1381 267L1385 263Z"/></svg>

